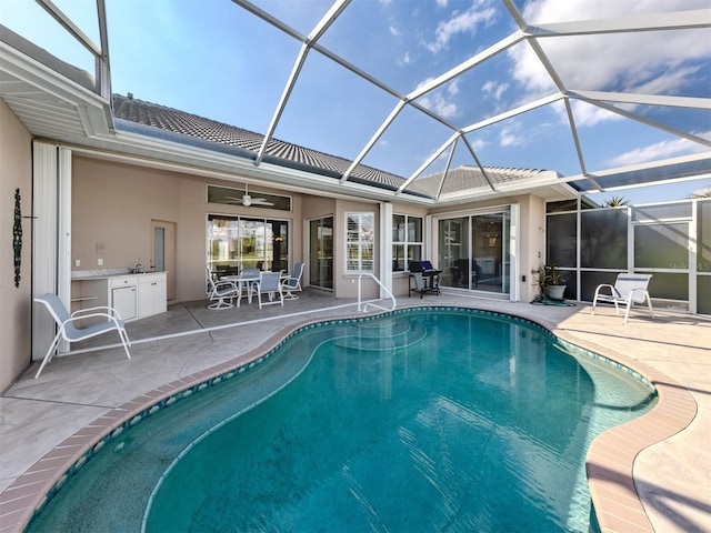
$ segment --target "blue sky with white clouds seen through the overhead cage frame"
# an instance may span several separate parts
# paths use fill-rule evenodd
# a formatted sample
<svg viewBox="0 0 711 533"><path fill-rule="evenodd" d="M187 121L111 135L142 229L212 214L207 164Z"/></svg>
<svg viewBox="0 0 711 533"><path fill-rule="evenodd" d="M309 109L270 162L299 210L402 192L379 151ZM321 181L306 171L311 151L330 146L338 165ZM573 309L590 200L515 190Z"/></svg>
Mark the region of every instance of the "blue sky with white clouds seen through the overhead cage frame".
<svg viewBox="0 0 711 533"><path fill-rule="evenodd" d="M12 3L13 9L9 9ZM96 1L54 0L99 42ZM309 34L330 9L326 0L256 0L260 9ZM530 24L708 9L708 0L514 0ZM264 133L274 117L301 43L230 0L106 0L113 92ZM93 71L90 54L58 37L33 0L0 0L0 21ZM500 0L354 0L319 46L380 86L311 50L274 137L356 159L395 109L461 62L509 38L514 21ZM711 97L708 29L554 37L541 48L569 90ZM512 46L414 101L443 125L405 105L377 139L364 164L408 178L453 131L557 91L525 42ZM711 111L634 105L630 112L711 140ZM572 105L589 172L709 151L709 147L585 102ZM554 102L467 134L485 167L581 172L568 113ZM442 170L450 151L427 168ZM452 164L475 164L459 142ZM623 195L634 203L688 198L711 180L680 182ZM603 198L607 194L602 193Z"/></svg>

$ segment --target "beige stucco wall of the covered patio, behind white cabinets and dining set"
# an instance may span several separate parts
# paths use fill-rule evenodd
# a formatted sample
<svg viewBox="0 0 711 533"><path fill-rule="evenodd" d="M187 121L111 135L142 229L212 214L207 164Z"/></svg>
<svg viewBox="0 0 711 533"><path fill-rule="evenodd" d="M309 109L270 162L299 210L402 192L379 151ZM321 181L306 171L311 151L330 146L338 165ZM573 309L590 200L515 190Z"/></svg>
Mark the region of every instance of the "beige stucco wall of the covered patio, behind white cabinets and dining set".
<svg viewBox="0 0 711 533"><path fill-rule="evenodd" d="M302 260L301 194L292 194L292 212L217 205L207 203L208 183L242 184L76 157L72 270L131 268L139 262L148 266L153 259L151 220L174 222L176 301L202 300L208 213L291 220L291 259ZM261 185L259 190L279 192ZM80 266L74 266L76 260Z"/></svg>

